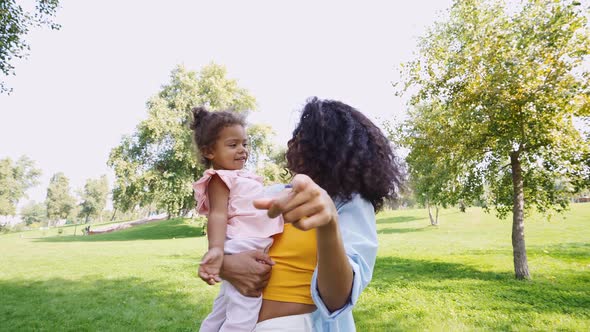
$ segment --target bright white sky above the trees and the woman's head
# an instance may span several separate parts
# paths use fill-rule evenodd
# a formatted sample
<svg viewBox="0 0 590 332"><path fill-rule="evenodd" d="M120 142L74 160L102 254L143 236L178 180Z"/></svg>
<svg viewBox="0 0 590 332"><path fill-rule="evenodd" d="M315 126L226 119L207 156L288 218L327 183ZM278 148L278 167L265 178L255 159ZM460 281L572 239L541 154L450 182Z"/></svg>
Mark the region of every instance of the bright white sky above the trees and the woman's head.
<svg viewBox="0 0 590 332"><path fill-rule="evenodd" d="M61 30L31 31L28 59L0 95L0 159L32 158L45 199L63 172L72 190L113 172L110 150L146 117L145 102L184 64L214 61L253 94L285 144L310 96L342 100L380 124L404 112L391 82L416 40L451 4L427 1L73 1ZM21 206L27 200L21 202Z"/></svg>

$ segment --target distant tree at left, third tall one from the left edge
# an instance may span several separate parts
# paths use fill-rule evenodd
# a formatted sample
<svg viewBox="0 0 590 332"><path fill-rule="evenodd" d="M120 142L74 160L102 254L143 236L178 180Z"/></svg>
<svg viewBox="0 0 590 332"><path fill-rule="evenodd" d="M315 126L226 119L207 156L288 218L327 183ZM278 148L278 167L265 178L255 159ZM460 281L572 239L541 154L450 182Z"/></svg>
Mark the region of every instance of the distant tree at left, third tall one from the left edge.
<svg viewBox="0 0 590 332"><path fill-rule="evenodd" d="M107 197L109 195L109 181L106 175L99 179L88 179L81 191L80 197L80 215L84 217L85 223L88 223L90 217L98 217L102 220L102 212L107 206Z"/></svg>

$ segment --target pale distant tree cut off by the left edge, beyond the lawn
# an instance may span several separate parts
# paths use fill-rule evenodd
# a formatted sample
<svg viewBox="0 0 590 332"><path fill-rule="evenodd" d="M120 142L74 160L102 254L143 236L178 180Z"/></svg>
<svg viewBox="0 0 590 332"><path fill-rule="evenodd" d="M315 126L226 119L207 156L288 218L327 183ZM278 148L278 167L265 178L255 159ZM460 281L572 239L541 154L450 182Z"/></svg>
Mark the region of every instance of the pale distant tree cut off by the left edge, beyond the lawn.
<svg viewBox="0 0 590 332"><path fill-rule="evenodd" d="M27 197L27 189L36 186L41 170L26 156L16 162L0 159L0 215L15 215L18 202Z"/></svg>

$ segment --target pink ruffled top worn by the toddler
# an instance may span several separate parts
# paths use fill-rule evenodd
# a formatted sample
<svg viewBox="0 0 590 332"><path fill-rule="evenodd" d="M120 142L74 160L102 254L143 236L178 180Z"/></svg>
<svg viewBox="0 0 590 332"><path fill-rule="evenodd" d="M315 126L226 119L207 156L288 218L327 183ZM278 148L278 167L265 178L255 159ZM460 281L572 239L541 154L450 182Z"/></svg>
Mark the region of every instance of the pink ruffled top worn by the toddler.
<svg viewBox="0 0 590 332"><path fill-rule="evenodd" d="M281 217L271 219L266 210L258 210L252 204L254 199L262 197L264 185L260 176L245 170L206 170L203 177L193 183L199 214L209 214L207 187L215 174L229 189L227 238L265 238L283 231Z"/></svg>

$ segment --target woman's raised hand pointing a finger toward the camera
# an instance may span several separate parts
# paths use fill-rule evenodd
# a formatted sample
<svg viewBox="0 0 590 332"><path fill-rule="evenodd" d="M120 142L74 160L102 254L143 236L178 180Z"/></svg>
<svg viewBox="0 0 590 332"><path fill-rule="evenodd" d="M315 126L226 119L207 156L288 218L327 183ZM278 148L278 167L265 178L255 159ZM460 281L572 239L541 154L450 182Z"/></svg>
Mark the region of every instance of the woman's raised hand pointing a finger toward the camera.
<svg viewBox="0 0 590 332"><path fill-rule="evenodd" d="M285 222L304 231L322 228L338 220L334 202L309 176L297 174L291 184L291 190L284 190L272 199L254 200L254 206L268 210L271 218L282 214Z"/></svg>

